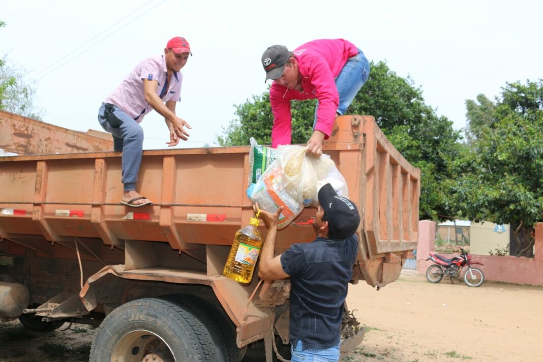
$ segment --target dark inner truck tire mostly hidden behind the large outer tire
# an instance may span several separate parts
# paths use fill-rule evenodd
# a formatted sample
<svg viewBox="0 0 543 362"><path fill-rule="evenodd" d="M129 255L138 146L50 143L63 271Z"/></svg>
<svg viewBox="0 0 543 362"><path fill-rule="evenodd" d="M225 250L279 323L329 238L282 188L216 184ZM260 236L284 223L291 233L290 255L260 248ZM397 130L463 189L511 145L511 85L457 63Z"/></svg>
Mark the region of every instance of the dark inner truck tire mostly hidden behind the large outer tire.
<svg viewBox="0 0 543 362"><path fill-rule="evenodd" d="M239 362L243 357L236 345L236 327L226 313L221 313L212 303L190 294L164 297L189 310L210 332L216 353L221 362Z"/></svg>

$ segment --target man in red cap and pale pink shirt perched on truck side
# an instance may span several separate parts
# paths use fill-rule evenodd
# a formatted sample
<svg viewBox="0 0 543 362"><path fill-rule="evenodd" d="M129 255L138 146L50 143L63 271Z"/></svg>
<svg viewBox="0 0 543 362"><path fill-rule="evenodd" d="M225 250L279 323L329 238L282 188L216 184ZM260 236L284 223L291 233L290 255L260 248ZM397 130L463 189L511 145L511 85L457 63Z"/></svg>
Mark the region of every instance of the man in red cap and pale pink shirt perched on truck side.
<svg viewBox="0 0 543 362"><path fill-rule="evenodd" d="M175 36L166 43L164 53L141 61L115 91L100 106L98 121L113 135L113 150L122 151L121 204L142 207L153 202L136 191L143 153L143 129L140 122L151 110L164 117L169 131L168 147L173 147L189 135L186 120L175 114L180 101L181 68L188 60L191 48L187 40Z"/></svg>

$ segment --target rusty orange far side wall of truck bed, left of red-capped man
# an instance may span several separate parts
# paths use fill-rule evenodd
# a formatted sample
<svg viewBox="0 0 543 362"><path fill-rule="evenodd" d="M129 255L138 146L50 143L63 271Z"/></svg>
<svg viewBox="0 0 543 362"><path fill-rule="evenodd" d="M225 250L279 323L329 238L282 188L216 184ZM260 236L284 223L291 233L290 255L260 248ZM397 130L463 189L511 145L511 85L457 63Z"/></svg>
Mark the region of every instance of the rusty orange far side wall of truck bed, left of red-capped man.
<svg viewBox="0 0 543 362"><path fill-rule="evenodd" d="M111 135L72 131L39 120L0 111L0 149L17 155L109 151Z"/></svg>

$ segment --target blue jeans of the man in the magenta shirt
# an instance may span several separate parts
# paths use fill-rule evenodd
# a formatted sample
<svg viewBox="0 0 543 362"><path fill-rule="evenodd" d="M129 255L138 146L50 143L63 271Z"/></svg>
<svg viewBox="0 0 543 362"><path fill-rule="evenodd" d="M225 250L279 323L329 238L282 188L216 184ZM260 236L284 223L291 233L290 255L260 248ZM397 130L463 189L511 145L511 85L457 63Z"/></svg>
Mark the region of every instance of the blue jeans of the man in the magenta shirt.
<svg viewBox="0 0 543 362"><path fill-rule="evenodd" d="M351 56L343 66L341 72L336 77L336 87L339 93L339 106L337 113L344 115L352 100L355 99L356 93L362 88L370 75L370 62L362 52L358 49L358 54ZM315 119L313 121L313 129L317 124L317 110L319 109L319 101L315 107Z"/></svg>

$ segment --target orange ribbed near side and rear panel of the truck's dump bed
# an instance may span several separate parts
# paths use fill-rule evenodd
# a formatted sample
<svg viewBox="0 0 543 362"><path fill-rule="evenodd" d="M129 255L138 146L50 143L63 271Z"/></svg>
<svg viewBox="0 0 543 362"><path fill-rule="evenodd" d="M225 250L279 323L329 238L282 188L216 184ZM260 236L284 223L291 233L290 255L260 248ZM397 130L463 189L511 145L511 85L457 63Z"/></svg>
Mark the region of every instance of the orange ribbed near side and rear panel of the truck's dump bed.
<svg viewBox="0 0 543 362"><path fill-rule="evenodd" d="M149 240L181 252L187 243L231 245L236 230L252 216L245 195L248 152L249 147L144 151L137 189L155 204L138 209L118 204L121 153L0 157L0 209L25 212L0 214L0 236L40 234L50 242L100 238L106 245ZM363 274L377 272L366 268L370 259L416 249L420 171L390 144L374 119L338 117L324 153L336 162L349 198L363 214ZM77 212L70 217L59 210ZM313 240L312 226L304 221L314 213L306 208L278 233L277 252ZM200 220L194 214L221 215L223 221L193 221Z"/></svg>

